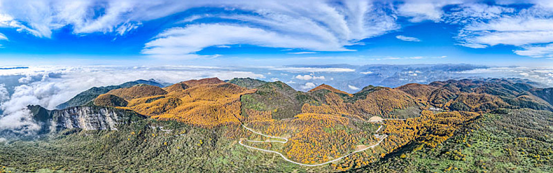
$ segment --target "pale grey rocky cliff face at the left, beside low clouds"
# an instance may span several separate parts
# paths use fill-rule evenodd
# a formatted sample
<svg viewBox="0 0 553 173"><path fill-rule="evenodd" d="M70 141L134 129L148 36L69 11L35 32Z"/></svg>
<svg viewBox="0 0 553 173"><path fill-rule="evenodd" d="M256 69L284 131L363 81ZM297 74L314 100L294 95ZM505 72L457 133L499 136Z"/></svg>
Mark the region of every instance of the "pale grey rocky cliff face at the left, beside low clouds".
<svg viewBox="0 0 553 173"><path fill-rule="evenodd" d="M64 129L117 130L122 124L145 118L134 111L101 106L75 106L62 110L45 110L29 106L35 121L42 123L40 133L59 132Z"/></svg>

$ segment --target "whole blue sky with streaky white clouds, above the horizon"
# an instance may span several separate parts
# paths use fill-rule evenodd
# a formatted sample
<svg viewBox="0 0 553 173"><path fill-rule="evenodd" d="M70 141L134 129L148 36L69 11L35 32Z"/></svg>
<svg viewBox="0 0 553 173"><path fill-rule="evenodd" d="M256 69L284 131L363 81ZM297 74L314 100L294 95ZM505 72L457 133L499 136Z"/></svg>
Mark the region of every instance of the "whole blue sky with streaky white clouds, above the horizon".
<svg viewBox="0 0 553 173"><path fill-rule="evenodd" d="M553 65L550 1L6 1L0 62Z"/></svg>

